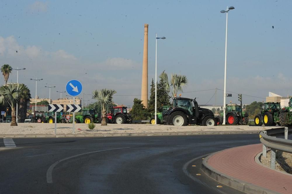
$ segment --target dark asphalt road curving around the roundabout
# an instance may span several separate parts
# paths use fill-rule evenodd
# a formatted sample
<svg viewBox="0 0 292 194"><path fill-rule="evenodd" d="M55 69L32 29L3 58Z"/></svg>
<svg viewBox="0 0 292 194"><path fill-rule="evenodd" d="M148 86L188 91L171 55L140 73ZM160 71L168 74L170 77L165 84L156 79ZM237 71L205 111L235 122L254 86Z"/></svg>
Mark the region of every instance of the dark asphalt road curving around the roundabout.
<svg viewBox="0 0 292 194"><path fill-rule="evenodd" d="M226 148L260 143L258 134L13 141L16 149L0 151L1 194L236 194L240 192L224 185L217 188L220 184L204 175L202 158Z"/></svg>

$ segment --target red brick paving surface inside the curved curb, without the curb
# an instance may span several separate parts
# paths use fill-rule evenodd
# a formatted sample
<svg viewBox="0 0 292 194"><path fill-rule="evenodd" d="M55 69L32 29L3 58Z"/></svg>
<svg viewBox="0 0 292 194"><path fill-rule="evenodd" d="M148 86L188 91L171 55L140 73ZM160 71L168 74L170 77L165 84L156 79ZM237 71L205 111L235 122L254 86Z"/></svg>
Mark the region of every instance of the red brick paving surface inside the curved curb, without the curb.
<svg viewBox="0 0 292 194"><path fill-rule="evenodd" d="M259 165L255 157L262 144L230 148L216 153L208 164L219 172L279 193L292 193L292 176Z"/></svg>

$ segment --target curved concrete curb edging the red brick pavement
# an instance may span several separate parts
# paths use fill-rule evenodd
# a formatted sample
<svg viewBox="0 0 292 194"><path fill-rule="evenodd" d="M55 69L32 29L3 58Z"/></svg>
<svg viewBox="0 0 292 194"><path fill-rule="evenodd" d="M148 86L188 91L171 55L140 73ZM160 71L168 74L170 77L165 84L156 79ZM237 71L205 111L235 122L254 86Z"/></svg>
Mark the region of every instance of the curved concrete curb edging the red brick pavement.
<svg viewBox="0 0 292 194"><path fill-rule="evenodd" d="M213 156L219 152L221 152L221 151L212 153L212 154L208 155L203 160L202 170L206 175L208 175L209 177L211 177L215 181L218 181L224 185L227 185L231 188L234 188L236 190L239 190L239 191L247 193L247 194L280 194L278 192L269 190L267 188L263 188L263 187L254 185L252 183L248 183L248 182L242 181L240 179L236 179L234 177L223 174L223 173L219 172L218 170L216 170L215 168L208 165L208 163L207 163L208 159L211 156Z"/></svg>

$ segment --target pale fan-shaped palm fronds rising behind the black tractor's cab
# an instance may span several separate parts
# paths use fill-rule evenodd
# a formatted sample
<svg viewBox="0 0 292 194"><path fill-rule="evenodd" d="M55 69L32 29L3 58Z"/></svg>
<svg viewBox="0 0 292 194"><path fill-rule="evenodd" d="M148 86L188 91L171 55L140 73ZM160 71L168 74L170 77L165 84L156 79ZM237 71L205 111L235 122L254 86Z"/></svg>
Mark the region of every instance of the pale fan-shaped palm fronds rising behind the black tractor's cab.
<svg viewBox="0 0 292 194"><path fill-rule="evenodd" d="M171 80L168 81L168 76L164 71L159 75L159 78L165 83L165 91L171 92L173 97L176 97L178 92L183 92L183 87L189 82L186 76L180 74L171 74Z"/></svg>

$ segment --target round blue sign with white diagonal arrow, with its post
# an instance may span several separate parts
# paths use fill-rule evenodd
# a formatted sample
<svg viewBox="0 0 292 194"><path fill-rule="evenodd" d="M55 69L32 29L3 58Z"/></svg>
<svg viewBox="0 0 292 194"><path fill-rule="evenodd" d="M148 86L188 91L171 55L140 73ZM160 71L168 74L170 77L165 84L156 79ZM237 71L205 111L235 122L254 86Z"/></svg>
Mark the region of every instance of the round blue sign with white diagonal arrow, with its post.
<svg viewBox="0 0 292 194"><path fill-rule="evenodd" d="M68 95L73 96L73 101L75 104L75 96L78 96L82 92L82 84L78 80L70 80L66 84L66 92ZM75 112L73 112L73 126L72 132L75 133Z"/></svg>

